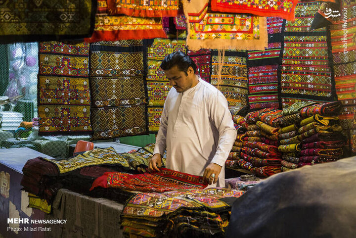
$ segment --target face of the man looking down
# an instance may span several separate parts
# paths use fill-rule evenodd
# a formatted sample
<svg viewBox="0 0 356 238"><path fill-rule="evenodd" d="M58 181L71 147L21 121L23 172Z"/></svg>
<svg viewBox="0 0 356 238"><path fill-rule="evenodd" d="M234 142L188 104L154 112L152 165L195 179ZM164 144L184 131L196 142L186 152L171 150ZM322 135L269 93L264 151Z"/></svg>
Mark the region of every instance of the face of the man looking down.
<svg viewBox="0 0 356 238"><path fill-rule="evenodd" d="M176 65L169 70L164 70L164 72L166 74L166 78L170 82L170 85L172 85L178 93L185 92L193 85L195 74L192 67L188 68L188 75L186 75L184 71L179 71L179 68Z"/></svg>

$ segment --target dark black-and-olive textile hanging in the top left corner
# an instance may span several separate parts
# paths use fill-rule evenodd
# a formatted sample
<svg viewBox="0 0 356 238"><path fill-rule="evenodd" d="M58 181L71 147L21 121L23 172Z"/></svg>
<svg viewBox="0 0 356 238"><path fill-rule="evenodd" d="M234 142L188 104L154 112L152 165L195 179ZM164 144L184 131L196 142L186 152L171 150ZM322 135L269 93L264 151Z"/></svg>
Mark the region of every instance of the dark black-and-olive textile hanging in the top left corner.
<svg viewBox="0 0 356 238"><path fill-rule="evenodd" d="M0 44L89 37L96 0L0 1Z"/></svg>

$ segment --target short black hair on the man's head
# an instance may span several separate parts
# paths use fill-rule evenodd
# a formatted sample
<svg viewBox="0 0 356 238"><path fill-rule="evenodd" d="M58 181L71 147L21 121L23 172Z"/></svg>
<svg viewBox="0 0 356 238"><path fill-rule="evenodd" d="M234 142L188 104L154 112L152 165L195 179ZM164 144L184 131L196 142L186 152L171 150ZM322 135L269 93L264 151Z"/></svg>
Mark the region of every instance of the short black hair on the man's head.
<svg viewBox="0 0 356 238"><path fill-rule="evenodd" d="M161 63L161 68L163 70L170 70L174 66L178 67L179 71L183 71L185 75L187 74L188 68L192 67L194 73L196 72L196 64L194 61L185 53L181 51L175 51L167 55Z"/></svg>

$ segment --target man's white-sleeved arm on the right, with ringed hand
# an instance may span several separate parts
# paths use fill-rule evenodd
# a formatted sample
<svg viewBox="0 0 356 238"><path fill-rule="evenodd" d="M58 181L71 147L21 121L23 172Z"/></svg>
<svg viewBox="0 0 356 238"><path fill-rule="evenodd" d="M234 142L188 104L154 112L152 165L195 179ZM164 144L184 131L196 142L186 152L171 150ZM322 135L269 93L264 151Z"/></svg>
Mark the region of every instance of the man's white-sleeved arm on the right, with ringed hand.
<svg viewBox="0 0 356 238"><path fill-rule="evenodd" d="M212 95L209 98L209 116L219 131L217 151L204 171L204 177L211 182L212 174L215 174L213 183L216 183L223 165L236 140L236 129L233 125L232 116L228 110L226 98L222 94Z"/></svg>

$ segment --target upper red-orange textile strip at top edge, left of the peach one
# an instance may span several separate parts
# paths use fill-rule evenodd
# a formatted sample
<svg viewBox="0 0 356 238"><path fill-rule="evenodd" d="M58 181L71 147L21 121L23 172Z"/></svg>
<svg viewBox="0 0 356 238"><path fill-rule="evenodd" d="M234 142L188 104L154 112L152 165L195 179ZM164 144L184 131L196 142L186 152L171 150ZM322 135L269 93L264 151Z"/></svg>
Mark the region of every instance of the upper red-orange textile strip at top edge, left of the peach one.
<svg viewBox="0 0 356 238"><path fill-rule="evenodd" d="M140 17L177 16L178 0L107 0L110 15Z"/></svg>

